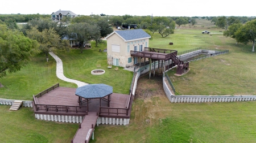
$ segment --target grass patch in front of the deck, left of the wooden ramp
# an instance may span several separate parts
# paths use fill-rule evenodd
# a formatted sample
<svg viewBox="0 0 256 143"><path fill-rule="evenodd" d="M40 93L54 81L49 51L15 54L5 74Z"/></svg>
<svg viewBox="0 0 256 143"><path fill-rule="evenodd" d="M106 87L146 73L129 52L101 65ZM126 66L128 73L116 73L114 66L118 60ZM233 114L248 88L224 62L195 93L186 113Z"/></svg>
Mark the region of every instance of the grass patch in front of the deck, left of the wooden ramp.
<svg viewBox="0 0 256 143"><path fill-rule="evenodd" d="M9 109L10 106L0 105L0 142L71 142L79 128L75 123L35 119L29 107Z"/></svg>

